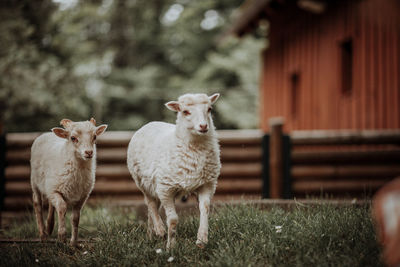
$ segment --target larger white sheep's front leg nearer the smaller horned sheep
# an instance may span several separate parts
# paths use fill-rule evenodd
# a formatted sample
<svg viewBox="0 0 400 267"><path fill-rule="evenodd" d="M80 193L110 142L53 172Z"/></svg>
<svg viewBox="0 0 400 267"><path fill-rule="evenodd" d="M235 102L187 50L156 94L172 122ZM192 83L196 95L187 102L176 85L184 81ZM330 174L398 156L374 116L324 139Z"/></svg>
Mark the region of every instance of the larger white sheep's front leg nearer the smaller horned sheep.
<svg viewBox="0 0 400 267"><path fill-rule="evenodd" d="M167 249L174 247L175 236L176 236L176 226L178 224L178 214L175 210L175 195L171 193L161 193L159 194L161 205L165 209L165 214L167 215L167 225L168 225L168 241Z"/></svg>

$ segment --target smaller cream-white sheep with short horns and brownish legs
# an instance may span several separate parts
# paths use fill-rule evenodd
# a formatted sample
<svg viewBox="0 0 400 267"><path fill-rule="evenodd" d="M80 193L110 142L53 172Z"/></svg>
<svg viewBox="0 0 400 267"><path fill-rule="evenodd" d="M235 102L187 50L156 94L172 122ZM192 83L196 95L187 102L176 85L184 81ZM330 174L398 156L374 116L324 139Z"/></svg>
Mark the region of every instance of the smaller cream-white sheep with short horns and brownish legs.
<svg viewBox="0 0 400 267"><path fill-rule="evenodd" d="M96 127L96 121L72 122L61 120L63 128L53 128L36 138L31 150L31 185L33 207L44 240L54 228L54 208L58 215L58 238L65 241L65 213L72 206L72 237L70 244L77 245L80 211L95 182L96 136L107 125ZM49 213L45 231L42 202L48 199Z"/></svg>

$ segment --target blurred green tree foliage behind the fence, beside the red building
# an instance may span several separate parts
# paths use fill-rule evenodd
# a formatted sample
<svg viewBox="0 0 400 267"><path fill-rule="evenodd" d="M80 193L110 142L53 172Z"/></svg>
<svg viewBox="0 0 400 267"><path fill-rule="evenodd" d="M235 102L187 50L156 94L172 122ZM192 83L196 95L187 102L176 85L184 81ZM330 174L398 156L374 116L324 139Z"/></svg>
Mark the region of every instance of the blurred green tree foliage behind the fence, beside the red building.
<svg viewBox="0 0 400 267"><path fill-rule="evenodd" d="M60 119L111 130L174 121L163 103L220 92L218 128L258 126L264 40L225 38L240 0L0 2L0 120L47 131Z"/></svg>

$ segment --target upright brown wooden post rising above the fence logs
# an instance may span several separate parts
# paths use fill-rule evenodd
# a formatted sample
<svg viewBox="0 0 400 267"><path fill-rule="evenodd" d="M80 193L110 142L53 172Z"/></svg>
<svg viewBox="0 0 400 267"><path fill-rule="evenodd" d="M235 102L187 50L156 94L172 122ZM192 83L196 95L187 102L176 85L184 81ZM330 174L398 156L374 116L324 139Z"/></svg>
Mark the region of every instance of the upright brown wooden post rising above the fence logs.
<svg viewBox="0 0 400 267"><path fill-rule="evenodd" d="M283 118L276 117L269 120L269 168L270 168L270 197L283 197Z"/></svg>

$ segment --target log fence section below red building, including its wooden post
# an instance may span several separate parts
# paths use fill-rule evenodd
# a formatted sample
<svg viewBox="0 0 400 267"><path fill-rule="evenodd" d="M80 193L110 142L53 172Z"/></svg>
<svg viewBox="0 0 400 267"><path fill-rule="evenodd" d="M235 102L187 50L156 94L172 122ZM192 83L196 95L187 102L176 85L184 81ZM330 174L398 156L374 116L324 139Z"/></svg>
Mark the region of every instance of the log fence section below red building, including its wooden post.
<svg viewBox="0 0 400 267"><path fill-rule="evenodd" d="M270 121L269 181L263 196L368 197L400 176L400 130L282 132Z"/></svg>

